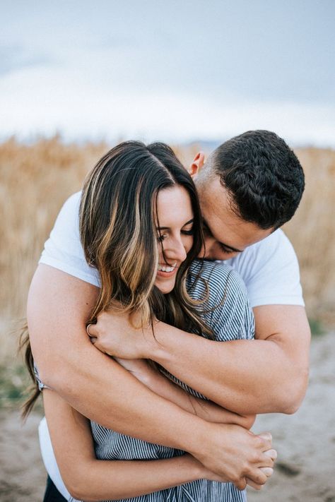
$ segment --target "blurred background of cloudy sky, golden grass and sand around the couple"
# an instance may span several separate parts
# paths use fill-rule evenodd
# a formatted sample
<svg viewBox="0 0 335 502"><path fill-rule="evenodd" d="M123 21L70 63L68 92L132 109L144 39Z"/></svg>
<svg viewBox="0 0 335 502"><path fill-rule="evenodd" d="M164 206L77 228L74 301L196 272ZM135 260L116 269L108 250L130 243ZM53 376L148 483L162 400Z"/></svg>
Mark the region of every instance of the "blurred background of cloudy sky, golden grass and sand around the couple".
<svg viewBox="0 0 335 502"><path fill-rule="evenodd" d="M314 335L311 384L318 387L310 399L314 406L326 400L334 417L334 19L332 0L1 4L0 418L3 440L13 434L4 451L16 448L13 465L0 458L1 501L23 494L28 502L39 500L45 475L38 411L25 429L13 411L27 382L16 345L31 277L61 204L124 139L170 143L184 165L199 150L208 154L249 129L275 131L295 150L306 190L284 231L298 254ZM330 394L321 398L327 386ZM294 443L298 437L301 413L274 423L283 451L288 438ZM304 413L320 425L310 407ZM296 422L291 428L290 419ZM334 460L333 436L324 441ZM335 501L327 470L302 497L303 477L315 471L296 467L297 448L299 458L319 450L307 436L303 441L303 452L287 450L273 491L250 494L251 501L276 502L284 485L290 490L278 501ZM314 465L322 463L313 458Z"/></svg>

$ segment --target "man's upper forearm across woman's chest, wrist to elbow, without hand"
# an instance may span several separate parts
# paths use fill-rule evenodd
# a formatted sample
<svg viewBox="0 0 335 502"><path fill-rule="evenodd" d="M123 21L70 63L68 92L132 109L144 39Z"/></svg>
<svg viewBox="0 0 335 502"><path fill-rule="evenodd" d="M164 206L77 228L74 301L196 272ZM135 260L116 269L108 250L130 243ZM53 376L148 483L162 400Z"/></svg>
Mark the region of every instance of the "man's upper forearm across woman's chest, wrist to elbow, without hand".
<svg viewBox="0 0 335 502"><path fill-rule="evenodd" d="M233 412L293 412L290 395L305 393L307 370L293 364L276 336L216 342L158 323L155 338L148 357Z"/></svg>

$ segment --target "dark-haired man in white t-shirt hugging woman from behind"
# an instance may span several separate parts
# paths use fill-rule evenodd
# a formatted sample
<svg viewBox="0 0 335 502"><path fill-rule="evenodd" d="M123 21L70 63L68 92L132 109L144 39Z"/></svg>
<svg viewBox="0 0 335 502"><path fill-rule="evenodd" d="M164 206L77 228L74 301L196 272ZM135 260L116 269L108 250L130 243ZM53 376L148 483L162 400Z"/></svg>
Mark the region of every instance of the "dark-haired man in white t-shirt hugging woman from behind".
<svg viewBox="0 0 335 502"><path fill-rule="evenodd" d="M276 157L278 165L285 165L288 157L294 155L280 138L267 131L254 131L237 138L233 140L239 145L235 161L244 151L245 145L249 158L248 169L251 169L248 171L249 179L254 177L253 166L261 162L272 165ZM236 153L230 155L234 156ZM227 258L227 251L243 251L241 256L247 258L241 258L240 268L245 267L247 271L250 263L253 263L254 255L259 265L257 274L261 277L256 282L254 277L250 277L249 291L254 287L257 297L257 292L262 292L266 281L269 279L272 282L267 275L268 269L273 271L277 268L277 275L281 275L282 261L277 263L271 256L274 254L280 258L283 246L286 251L290 250L288 262L293 262L290 270L294 273L295 280L298 280L298 269L290 245L281 237L282 234L271 234L283 224L283 220L275 219L269 227L263 228L258 222L248 220L245 213L239 212L234 204L235 199L232 198L233 189L228 184L229 179L235 177L234 169L228 169L228 179L218 175L216 169L218 163L221 163L219 157L218 153L211 155L197 181L204 218L208 232L211 232L206 237L208 257L222 259ZM246 162L244 157L243 162ZM290 163L290 167L294 167L296 171L293 179L297 173L300 179L302 176L297 162L293 162L293 165ZM192 169L196 170L202 163L203 156L198 155ZM240 174L236 174L235 183L238 186ZM278 169L278 180L281 181L285 176ZM254 190L260 179L255 177ZM294 185L292 179L290 183ZM261 190L266 194L274 190L282 195L278 184L266 181L261 185ZM303 181L300 181L300 196L302 186ZM286 211L286 220L293 215L300 196L293 198L290 211ZM244 198L242 193L242 199ZM216 202L213 204L212 201ZM259 202L259 214L269 211L267 205L263 204L264 201L259 199ZM286 204L284 200L281 201L281 196L274 201L274 205L276 203L283 207ZM77 223L78 208L71 207L70 199L57 219L30 287L30 338L42 381L95 422L146 441L187 450L208 468L230 479L240 488L244 488L246 478L255 483L265 482L259 466L264 465L261 463L264 462L264 451L271 448L271 441L254 436L238 426L208 424L184 412L151 393L112 359L92 347L86 336L85 325L98 293L98 280L96 271L88 267L83 259ZM254 254L254 246L263 249L261 242L254 243L264 238L273 239L276 235L280 236L276 253L273 246L266 244L269 253L259 253L256 249ZM264 260L266 256L267 261ZM213 349L211 340L187 334L183 337L184 345L178 342L178 354L173 354L168 346L168 337L177 336L178 330L160 323L158 335L163 350L158 354L155 345L149 347L146 343L140 348L140 352L152 352L150 357L155 360L161 358L163 366L186 383L192 381L192 369L196 364L197 373L203 377L201 389L206 390L204 394L219 404L224 403L225 407L235 412L243 413L243 409L247 409L249 413L293 412L305 393L309 330L300 292L295 292L293 288L292 293L290 284L284 284L283 289L288 289L288 292L279 294L277 299L277 286L276 283L271 284L274 293L272 300L276 301L269 301L271 294L261 299L258 293L260 303L254 303L258 340L252 343L243 340L226 342L222 344L218 354ZM280 297L282 301L279 300ZM128 333L127 319L119 318L119 322L120 329ZM90 329L92 328L94 327L91 326ZM146 337L146 340L149 338ZM216 344L216 349L218 345ZM182 373L180 366L183 366ZM155 414L151 412L153 409ZM173 434L170 433L171 429ZM255 450L258 451L257 455Z"/></svg>

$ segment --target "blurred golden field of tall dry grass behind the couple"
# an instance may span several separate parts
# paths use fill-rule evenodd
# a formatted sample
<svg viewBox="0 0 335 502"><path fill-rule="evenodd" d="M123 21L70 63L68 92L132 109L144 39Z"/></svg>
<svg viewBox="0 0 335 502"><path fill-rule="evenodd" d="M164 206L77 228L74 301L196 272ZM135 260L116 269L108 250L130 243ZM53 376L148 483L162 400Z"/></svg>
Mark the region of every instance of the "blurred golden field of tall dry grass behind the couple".
<svg viewBox="0 0 335 502"><path fill-rule="evenodd" d="M108 148L104 143L64 144L57 136L33 145L11 138L0 145L2 323L25 315L28 286L54 218ZM176 151L187 165L196 145ZM301 148L296 153L305 169L306 190L285 231L300 260L308 315L334 325L335 151ZM3 355L7 343L2 344Z"/></svg>

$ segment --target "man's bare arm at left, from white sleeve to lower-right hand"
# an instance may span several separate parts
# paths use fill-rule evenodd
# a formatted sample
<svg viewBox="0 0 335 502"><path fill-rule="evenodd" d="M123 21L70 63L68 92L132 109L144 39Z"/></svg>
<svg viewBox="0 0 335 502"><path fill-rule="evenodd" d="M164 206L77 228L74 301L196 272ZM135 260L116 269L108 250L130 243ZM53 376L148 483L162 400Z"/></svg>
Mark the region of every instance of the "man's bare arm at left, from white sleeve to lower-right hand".
<svg viewBox="0 0 335 502"><path fill-rule="evenodd" d="M246 477L266 482L259 467L273 465L264 453L271 440L237 425L195 417L151 392L93 347L85 325L97 294L97 288L60 270L37 268L28 298L28 325L42 381L95 422L187 450L240 488Z"/></svg>

